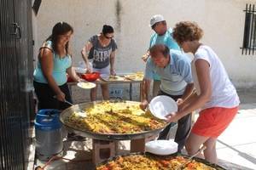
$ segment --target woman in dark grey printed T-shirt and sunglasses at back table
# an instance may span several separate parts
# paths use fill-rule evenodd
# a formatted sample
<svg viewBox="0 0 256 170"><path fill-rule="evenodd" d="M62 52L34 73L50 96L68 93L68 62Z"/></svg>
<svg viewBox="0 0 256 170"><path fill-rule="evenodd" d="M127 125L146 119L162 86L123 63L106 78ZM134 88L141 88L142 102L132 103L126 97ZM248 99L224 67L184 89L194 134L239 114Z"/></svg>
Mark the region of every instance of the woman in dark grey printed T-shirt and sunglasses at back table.
<svg viewBox="0 0 256 170"><path fill-rule="evenodd" d="M90 37L81 51L86 68L89 72L100 72L102 77L114 75L114 58L117 45L113 40L113 27L104 25L99 35ZM89 64L92 59L92 68ZM109 99L108 84L101 84L103 99ZM90 90L90 100L96 100L96 88Z"/></svg>

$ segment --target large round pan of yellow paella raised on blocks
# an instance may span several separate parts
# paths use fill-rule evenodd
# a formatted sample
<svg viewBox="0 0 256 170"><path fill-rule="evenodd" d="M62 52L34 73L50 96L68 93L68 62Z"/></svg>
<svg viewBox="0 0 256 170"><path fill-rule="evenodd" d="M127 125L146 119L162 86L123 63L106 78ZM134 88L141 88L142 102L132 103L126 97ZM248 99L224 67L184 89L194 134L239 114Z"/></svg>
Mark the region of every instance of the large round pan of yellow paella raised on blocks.
<svg viewBox="0 0 256 170"><path fill-rule="evenodd" d="M110 100L73 105L61 112L61 122L74 133L102 140L142 139L166 127L139 104Z"/></svg>

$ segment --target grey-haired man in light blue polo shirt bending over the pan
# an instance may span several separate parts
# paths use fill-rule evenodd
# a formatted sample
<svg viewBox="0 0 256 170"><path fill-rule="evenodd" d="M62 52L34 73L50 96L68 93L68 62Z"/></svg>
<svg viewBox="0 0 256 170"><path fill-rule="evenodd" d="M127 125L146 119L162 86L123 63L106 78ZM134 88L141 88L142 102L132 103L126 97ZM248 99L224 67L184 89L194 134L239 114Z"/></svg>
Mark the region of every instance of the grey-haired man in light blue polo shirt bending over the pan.
<svg viewBox="0 0 256 170"><path fill-rule="evenodd" d="M188 98L194 88L191 75L191 65L189 58L177 50L169 50L163 44L156 44L149 49L151 58L148 58L145 70L145 81L153 79L153 73L160 76L160 91L158 95L167 95L182 103ZM147 83L143 83L142 109L148 105ZM159 139L166 139L172 125L168 125L159 136ZM177 133L175 141L178 144L178 152L183 149L185 139L191 128L191 114L183 116L177 122Z"/></svg>

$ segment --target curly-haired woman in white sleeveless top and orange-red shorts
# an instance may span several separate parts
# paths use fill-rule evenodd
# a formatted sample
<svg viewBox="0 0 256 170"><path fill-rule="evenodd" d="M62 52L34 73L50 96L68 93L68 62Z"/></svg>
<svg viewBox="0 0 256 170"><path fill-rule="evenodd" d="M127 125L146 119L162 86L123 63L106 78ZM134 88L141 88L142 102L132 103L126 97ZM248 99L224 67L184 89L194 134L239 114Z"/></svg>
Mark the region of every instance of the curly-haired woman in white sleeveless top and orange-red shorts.
<svg viewBox="0 0 256 170"><path fill-rule="evenodd" d="M194 54L191 64L196 92L167 119L168 122L177 122L191 111L201 109L186 141L186 150L193 155L204 144L207 146L205 159L217 163L217 138L236 116L240 101L218 55L199 42L202 35L203 31L194 22L180 22L174 28L173 37L178 45L185 53Z"/></svg>

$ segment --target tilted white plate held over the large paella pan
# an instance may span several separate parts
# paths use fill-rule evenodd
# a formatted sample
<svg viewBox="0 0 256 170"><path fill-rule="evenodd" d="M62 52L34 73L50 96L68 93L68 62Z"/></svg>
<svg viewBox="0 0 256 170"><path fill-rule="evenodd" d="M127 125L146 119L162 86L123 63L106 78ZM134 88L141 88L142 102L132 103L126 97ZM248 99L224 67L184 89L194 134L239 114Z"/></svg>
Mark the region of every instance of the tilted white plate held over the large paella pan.
<svg viewBox="0 0 256 170"><path fill-rule="evenodd" d="M166 95L160 95L150 101L148 108L152 115L166 120L166 115L177 111L177 103Z"/></svg>

